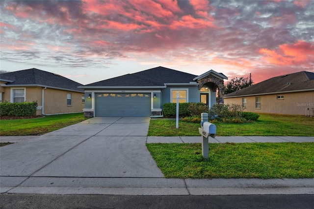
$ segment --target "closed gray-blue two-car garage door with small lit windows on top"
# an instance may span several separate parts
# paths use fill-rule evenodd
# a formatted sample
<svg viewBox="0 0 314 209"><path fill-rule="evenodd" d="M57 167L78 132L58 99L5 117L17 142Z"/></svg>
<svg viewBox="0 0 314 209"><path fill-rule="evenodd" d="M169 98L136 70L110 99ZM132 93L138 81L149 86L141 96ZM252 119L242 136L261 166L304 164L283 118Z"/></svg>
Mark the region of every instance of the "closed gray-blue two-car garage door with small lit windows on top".
<svg viewBox="0 0 314 209"><path fill-rule="evenodd" d="M95 93L95 116L151 116L151 93Z"/></svg>

